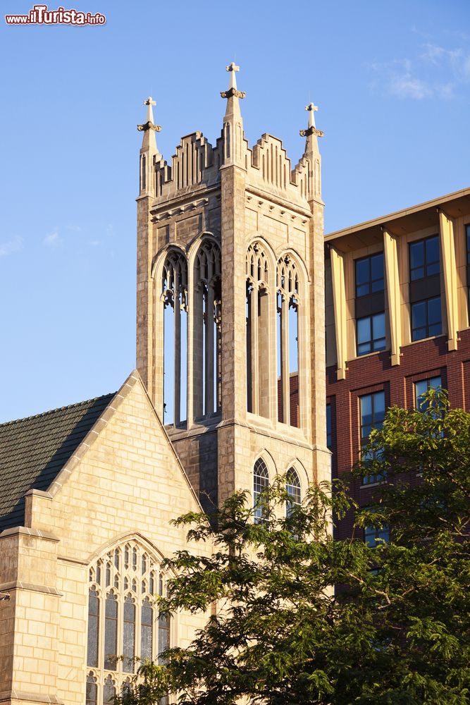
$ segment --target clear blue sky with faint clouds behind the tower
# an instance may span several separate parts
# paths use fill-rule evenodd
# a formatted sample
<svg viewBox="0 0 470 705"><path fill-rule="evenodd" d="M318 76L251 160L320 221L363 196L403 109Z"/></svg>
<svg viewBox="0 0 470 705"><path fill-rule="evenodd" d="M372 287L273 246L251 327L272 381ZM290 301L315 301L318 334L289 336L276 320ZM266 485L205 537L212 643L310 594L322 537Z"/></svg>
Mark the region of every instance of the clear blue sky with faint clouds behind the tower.
<svg viewBox="0 0 470 705"><path fill-rule="evenodd" d="M113 391L135 366L149 94L167 159L194 130L215 142L232 60L250 144L272 133L297 161L313 100L326 231L470 185L468 0L71 6L106 25L0 18L0 422Z"/></svg>

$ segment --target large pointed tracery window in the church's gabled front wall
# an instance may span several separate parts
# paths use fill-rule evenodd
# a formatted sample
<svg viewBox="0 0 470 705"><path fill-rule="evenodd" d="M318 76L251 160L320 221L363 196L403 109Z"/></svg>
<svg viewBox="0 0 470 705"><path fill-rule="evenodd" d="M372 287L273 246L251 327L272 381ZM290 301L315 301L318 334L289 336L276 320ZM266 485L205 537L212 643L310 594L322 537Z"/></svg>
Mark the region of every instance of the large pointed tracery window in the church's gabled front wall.
<svg viewBox="0 0 470 705"><path fill-rule="evenodd" d="M135 540L89 568L87 705L112 703L140 661L169 648L170 618L156 606L164 589L158 560Z"/></svg>

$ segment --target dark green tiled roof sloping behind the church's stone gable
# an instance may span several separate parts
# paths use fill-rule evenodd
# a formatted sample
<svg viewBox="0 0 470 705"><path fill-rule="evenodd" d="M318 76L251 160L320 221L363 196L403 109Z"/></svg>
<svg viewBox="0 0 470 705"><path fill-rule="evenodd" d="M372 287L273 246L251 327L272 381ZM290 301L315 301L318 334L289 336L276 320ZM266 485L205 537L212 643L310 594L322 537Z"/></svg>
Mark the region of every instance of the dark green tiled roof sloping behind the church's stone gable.
<svg viewBox="0 0 470 705"><path fill-rule="evenodd" d="M113 396L0 424L0 531L24 524L26 492L47 491Z"/></svg>

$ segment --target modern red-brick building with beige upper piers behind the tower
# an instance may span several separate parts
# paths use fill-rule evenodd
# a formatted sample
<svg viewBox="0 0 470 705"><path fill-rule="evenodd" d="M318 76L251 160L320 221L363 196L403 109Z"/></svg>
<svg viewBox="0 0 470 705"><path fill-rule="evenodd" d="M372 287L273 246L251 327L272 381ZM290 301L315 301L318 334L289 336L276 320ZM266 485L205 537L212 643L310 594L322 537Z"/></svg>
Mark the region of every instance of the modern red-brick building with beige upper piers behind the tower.
<svg viewBox="0 0 470 705"><path fill-rule="evenodd" d="M470 410L470 189L325 242L328 446L340 476L387 407L443 386L452 406ZM354 484L361 505L378 481ZM338 536L350 532L346 520Z"/></svg>

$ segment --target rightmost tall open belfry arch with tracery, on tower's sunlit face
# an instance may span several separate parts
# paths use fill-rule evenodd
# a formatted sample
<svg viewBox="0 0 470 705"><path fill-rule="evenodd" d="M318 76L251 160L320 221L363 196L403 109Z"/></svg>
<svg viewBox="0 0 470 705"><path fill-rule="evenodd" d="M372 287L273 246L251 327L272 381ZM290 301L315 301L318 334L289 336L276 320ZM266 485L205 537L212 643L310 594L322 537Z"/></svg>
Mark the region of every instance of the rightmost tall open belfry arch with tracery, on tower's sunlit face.
<svg viewBox="0 0 470 705"><path fill-rule="evenodd" d="M284 255L276 271L278 421L299 427L299 271Z"/></svg>

